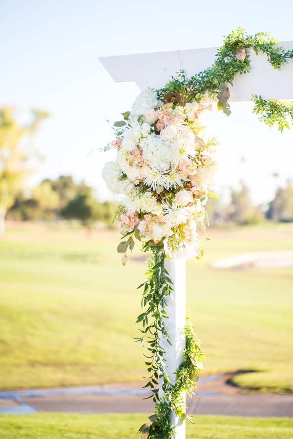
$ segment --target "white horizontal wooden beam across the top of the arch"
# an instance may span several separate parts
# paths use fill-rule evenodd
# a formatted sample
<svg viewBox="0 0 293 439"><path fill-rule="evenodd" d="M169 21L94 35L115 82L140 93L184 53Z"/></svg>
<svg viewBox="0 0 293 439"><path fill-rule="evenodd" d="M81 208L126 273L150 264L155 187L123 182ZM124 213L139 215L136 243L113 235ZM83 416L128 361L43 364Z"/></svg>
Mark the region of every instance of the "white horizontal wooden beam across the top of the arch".
<svg viewBox="0 0 293 439"><path fill-rule="evenodd" d="M278 46L293 49L293 41L280 41ZM99 60L116 82L134 81L141 90L163 87L176 72L187 71L188 76L211 66L216 47L177 50L170 52L102 57ZM249 101L252 94L263 99L293 99L293 60L275 70L263 53L251 55L251 72L237 75L230 89L230 101Z"/></svg>

